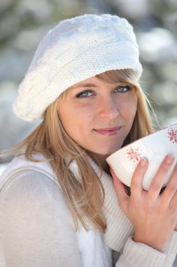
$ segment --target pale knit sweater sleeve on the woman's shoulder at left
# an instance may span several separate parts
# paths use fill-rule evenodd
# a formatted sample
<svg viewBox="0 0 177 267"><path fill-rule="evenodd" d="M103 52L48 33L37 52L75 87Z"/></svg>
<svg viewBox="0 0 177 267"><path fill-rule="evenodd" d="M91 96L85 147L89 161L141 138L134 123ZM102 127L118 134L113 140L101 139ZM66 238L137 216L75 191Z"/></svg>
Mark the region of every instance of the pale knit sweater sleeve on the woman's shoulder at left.
<svg viewBox="0 0 177 267"><path fill-rule="evenodd" d="M8 267L81 266L76 233L57 184L36 171L19 174L0 194L1 262Z"/></svg>

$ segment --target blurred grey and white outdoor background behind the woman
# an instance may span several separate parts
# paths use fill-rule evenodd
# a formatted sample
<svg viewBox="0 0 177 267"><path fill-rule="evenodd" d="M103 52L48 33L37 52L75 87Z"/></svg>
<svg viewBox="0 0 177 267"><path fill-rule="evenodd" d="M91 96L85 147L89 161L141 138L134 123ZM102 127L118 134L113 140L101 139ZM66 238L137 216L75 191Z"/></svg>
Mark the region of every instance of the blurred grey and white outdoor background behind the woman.
<svg viewBox="0 0 177 267"><path fill-rule="evenodd" d="M84 13L117 14L132 23L143 64L141 85L159 119L157 127L177 122L176 0L1 0L0 150L38 125L17 119L12 110L38 42L60 20Z"/></svg>

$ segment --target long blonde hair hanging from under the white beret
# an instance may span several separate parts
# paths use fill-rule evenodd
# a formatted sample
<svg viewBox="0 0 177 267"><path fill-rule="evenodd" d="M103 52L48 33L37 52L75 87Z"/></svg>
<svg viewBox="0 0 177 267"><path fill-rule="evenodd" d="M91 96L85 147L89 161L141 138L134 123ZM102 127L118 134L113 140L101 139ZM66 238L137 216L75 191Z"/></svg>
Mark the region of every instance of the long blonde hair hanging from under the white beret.
<svg viewBox="0 0 177 267"><path fill-rule="evenodd" d="M132 70L112 70L96 76L98 79L115 86L118 81L132 84L136 88L138 104L132 129L125 139L124 145L135 141L152 132L152 123L148 108L148 99L143 93L141 86L136 81ZM78 145L64 131L59 119L59 101L67 97L70 89L62 93L47 110L43 122L24 139L11 152L13 155L20 154L22 149L27 159L35 161L34 153L42 153L50 161L55 171L66 202L69 205L76 229L78 220L87 229L84 217L86 216L101 231L106 230L106 221L103 214L104 188L100 178L93 171L87 151ZM69 157L69 162L66 158ZM80 173L80 180L73 176L69 170L69 164L76 160ZM96 159L95 159L96 160ZM99 164L99 162L97 162Z"/></svg>

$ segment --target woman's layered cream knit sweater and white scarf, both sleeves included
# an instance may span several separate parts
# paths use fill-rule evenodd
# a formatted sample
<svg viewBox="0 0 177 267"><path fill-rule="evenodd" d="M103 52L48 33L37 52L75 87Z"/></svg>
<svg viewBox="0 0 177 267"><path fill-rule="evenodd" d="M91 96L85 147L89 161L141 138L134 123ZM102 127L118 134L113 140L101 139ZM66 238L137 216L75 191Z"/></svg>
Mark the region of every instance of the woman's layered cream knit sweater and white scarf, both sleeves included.
<svg viewBox="0 0 177 267"><path fill-rule="evenodd" d="M99 175L99 167L90 162ZM78 176L74 162L71 171ZM0 266L172 266L177 233L171 236L165 253L132 241L133 227L118 205L111 176L104 173L101 182L106 193L106 233L91 224L88 231L79 224L75 232L50 164L15 158L0 177Z"/></svg>

